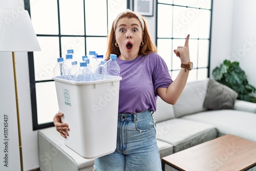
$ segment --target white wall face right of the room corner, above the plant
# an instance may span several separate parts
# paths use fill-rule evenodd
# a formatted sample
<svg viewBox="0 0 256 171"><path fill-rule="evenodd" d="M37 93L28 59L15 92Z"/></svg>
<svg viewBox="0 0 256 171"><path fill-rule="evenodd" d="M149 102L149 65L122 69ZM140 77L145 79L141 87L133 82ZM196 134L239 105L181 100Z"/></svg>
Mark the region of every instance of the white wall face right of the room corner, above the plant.
<svg viewBox="0 0 256 171"><path fill-rule="evenodd" d="M231 52L240 62L248 81L256 87L256 1L234 0Z"/></svg>

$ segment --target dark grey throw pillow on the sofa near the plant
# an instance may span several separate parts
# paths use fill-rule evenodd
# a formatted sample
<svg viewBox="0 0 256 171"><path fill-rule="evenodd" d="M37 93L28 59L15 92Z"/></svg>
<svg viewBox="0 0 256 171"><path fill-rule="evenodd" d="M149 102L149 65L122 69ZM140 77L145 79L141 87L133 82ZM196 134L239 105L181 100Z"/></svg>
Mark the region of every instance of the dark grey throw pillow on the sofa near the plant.
<svg viewBox="0 0 256 171"><path fill-rule="evenodd" d="M209 110L233 109L238 93L215 80L209 79L203 107Z"/></svg>

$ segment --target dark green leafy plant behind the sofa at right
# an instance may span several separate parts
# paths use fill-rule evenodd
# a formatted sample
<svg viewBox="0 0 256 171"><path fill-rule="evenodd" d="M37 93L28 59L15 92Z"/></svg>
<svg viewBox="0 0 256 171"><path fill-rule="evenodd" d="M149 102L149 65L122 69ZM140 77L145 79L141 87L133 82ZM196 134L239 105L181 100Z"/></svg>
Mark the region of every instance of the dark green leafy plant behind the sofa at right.
<svg viewBox="0 0 256 171"><path fill-rule="evenodd" d="M253 96L255 88L248 83L245 72L239 67L239 62L224 60L220 67L212 71L214 79L238 93L238 98L256 103Z"/></svg>

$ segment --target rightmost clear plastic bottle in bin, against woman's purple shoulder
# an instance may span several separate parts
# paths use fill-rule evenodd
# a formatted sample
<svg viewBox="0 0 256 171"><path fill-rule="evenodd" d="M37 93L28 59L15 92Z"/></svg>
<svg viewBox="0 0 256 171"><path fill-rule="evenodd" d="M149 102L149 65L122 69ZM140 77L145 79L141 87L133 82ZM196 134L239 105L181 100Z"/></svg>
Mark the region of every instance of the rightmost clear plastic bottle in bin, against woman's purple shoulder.
<svg viewBox="0 0 256 171"><path fill-rule="evenodd" d="M103 65L103 75L114 75L119 76L120 75L120 67L118 63L116 62L117 55L116 54L110 54L110 59L105 62Z"/></svg>

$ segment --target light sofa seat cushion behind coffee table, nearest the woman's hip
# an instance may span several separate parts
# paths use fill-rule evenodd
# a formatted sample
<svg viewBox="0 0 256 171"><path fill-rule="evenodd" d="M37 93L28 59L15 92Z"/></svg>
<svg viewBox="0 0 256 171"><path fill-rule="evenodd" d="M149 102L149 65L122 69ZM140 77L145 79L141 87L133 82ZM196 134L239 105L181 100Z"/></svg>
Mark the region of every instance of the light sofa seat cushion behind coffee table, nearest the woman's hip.
<svg viewBox="0 0 256 171"><path fill-rule="evenodd" d="M214 126L186 119L169 119L156 124L157 139L173 144L174 153L217 137Z"/></svg>

